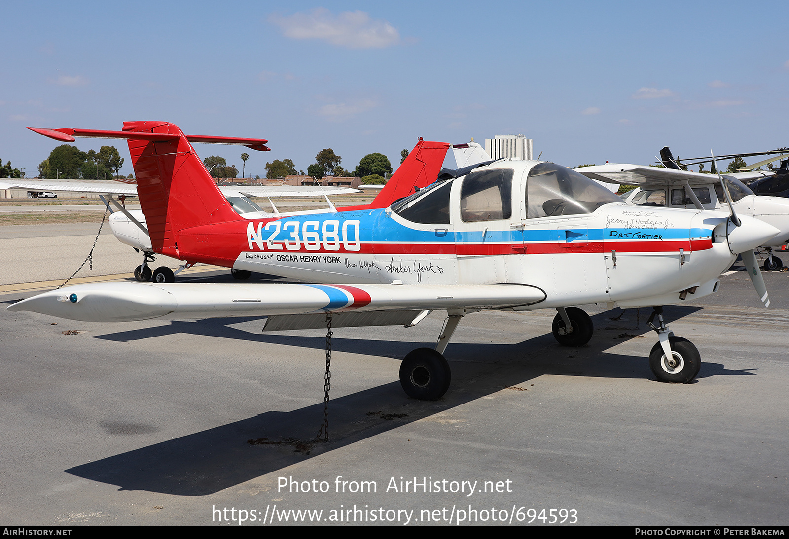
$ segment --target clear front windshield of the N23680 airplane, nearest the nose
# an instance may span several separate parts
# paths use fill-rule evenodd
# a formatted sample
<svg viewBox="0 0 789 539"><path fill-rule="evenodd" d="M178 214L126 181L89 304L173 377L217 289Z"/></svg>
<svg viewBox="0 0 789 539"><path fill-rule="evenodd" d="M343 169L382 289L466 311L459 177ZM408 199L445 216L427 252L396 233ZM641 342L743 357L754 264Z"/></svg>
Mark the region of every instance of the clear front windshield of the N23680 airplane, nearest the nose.
<svg viewBox="0 0 789 539"><path fill-rule="evenodd" d="M526 180L527 217L591 214L608 203L624 202L594 180L554 163L538 163Z"/></svg>

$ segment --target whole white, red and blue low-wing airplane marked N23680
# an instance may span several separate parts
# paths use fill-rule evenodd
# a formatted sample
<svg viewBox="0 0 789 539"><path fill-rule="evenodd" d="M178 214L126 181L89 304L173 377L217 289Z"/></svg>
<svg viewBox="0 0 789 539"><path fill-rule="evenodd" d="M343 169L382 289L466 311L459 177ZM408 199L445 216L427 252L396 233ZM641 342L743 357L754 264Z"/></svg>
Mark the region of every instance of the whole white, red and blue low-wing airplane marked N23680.
<svg viewBox="0 0 789 539"><path fill-rule="evenodd" d="M555 309L555 339L580 346L593 323L574 306L654 307L653 373L690 382L701 356L669 331L661 306L715 292L739 253L778 232L719 211L627 206L551 162L503 159L434 181L451 145L422 140L371 204L246 220L177 126L126 122L109 133L129 140L156 253L305 284L79 284L9 310L92 322L260 316L265 330L415 325L446 310L436 348L402 362L402 387L418 399L447 391L443 351L463 315L481 309Z"/></svg>

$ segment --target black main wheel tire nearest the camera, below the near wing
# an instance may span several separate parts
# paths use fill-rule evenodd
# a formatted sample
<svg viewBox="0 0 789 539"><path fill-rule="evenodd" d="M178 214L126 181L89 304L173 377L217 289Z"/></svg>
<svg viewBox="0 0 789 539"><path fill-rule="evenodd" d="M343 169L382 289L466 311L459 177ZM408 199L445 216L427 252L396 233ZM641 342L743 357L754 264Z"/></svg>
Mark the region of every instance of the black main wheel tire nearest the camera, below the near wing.
<svg viewBox="0 0 789 539"><path fill-rule="evenodd" d="M439 400L451 380L447 359L432 348L412 350L400 364L400 385L414 399Z"/></svg>

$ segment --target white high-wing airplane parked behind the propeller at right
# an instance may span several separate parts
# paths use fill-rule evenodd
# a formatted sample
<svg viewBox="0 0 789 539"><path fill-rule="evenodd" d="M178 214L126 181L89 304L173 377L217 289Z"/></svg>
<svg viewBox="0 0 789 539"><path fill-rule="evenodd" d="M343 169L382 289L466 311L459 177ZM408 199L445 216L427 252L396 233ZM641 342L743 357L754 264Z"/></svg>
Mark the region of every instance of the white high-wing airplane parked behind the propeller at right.
<svg viewBox="0 0 789 539"><path fill-rule="evenodd" d="M660 151L663 167L607 163L575 169L585 177L607 184L638 185L624 195L625 202L641 208L695 208L697 210L729 210L737 215L756 217L779 229L779 233L760 247L765 248L765 271L781 269L783 262L772 254L773 249L789 242L789 199L757 196L743 181L774 176L770 171L705 174L679 169L671 151ZM724 192L724 186L726 191Z"/></svg>

